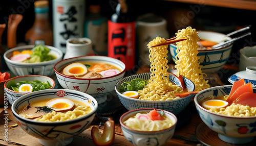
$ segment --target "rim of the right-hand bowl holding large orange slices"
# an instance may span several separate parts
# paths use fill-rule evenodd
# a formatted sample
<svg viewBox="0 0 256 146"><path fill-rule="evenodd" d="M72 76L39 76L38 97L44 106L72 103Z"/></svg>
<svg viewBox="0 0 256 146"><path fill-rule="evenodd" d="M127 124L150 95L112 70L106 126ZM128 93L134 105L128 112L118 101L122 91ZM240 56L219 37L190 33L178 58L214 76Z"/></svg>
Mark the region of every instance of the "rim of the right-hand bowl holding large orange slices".
<svg viewBox="0 0 256 146"><path fill-rule="evenodd" d="M201 110L209 113L209 114L214 114L214 115L217 115L217 116L221 116L221 117L226 117L226 118L239 118L239 119L250 119L250 118L255 118L255 116L250 116L250 117L238 117L238 116L230 116L230 115L224 115L224 114L218 114L218 113L215 113L215 112L212 112L212 111L209 111L205 108L203 108L202 106L199 105L198 101L197 101L197 98L200 94L203 94L205 91L207 90L214 90L214 89L219 89L220 87L222 88L225 88L225 87L232 87L233 85L223 85L223 86L216 86L216 87L210 87L210 88L207 88L207 89L204 89L202 91L200 91L199 93L196 94L195 98L194 98L194 102L195 102L195 105L200 108ZM256 90L256 88L253 88Z"/></svg>

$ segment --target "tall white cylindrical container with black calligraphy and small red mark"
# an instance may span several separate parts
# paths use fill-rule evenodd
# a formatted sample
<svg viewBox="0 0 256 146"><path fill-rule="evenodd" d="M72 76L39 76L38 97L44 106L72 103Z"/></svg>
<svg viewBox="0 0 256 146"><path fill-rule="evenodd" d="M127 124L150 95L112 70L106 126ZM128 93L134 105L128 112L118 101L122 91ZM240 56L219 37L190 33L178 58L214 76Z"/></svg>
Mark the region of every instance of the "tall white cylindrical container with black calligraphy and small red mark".
<svg viewBox="0 0 256 146"><path fill-rule="evenodd" d="M83 37L84 0L53 0L54 46L66 53L66 40Z"/></svg>

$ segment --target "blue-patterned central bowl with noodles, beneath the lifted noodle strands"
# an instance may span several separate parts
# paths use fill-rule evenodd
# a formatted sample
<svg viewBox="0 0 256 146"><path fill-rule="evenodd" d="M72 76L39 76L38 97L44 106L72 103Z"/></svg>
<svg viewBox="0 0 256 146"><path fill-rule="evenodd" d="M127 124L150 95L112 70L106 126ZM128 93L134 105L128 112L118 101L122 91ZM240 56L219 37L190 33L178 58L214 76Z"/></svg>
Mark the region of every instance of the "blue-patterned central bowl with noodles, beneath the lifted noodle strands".
<svg viewBox="0 0 256 146"><path fill-rule="evenodd" d="M136 93L138 95L137 98L126 96L123 94L124 92L121 92L121 86L123 85L123 83L125 84L127 82L136 81L138 79L142 80L139 81L140 83L138 84L142 84L141 86L144 87L143 80L150 80L151 72L126 77L117 82L115 86L115 90L117 92L119 100L121 101L123 106L129 111L140 108L157 108L172 112L177 115L186 108L191 99L195 96L195 94L189 94L183 98L176 96L175 94L177 92L183 92L181 88L182 85L178 77L171 73L168 74L168 82L170 85L169 92L167 93L164 90L159 91L163 94L164 92L166 92L163 96L159 96L155 90L148 90L151 87L149 87L148 89L143 88L141 90L138 90ZM184 77L183 80L185 87L188 91L195 90L195 84L191 80ZM136 86L138 86L138 84Z"/></svg>

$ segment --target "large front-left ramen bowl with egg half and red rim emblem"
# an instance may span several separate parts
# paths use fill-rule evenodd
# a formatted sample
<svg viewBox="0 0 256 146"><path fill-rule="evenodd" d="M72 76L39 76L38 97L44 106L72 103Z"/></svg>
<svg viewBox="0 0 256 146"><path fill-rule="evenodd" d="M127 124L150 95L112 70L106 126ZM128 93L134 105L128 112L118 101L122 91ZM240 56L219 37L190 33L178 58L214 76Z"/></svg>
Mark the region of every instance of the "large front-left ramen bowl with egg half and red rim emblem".
<svg viewBox="0 0 256 146"><path fill-rule="evenodd" d="M42 145L70 144L90 126L97 108L93 96L70 89L31 92L11 107L18 126Z"/></svg>

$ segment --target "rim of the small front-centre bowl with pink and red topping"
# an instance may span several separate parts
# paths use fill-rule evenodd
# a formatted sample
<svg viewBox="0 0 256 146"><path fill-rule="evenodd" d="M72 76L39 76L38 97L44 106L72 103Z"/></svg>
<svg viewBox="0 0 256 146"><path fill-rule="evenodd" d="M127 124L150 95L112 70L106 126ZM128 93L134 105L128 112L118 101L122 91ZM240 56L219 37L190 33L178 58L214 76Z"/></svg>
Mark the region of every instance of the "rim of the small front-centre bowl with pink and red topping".
<svg viewBox="0 0 256 146"><path fill-rule="evenodd" d="M127 112L123 113L123 114L120 116L120 118L119 118L119 123L120 123L120 125L121 125L122 127L124 127L125 129L128 129L128 130L133 131L133 132L145 133L145 134L146 134L146 133L161 133L162 131L168 131L168 130L173 129L174 127L176 127L177 122L178 122L177 117L176 117L172 112L169 112L169 111L166 111L166 110L162 110L162 111L163 111L164 113L168 113L169 115L173 116L173 117L175 118L175 121L174 121L175 124L172 125L172 126L169 127L169 128L163 129L163 130L158 130L158 131L139 131L139 130L134 130L134 129L130 128L130 127L125 126L125 125L123 124L123 122L122 122L122 119L123 119L123 117L124 117L126 114L129 114L129 113L131 113L131 112L134 112L134 113L136 114L136 113L138 113L138 112L135 112L135 111L154 110L154 109L157 110L157 111L162 110L162 109L156 109L156 108L141 108L141 109L134 109L134 110L127 111Z"/></svg>

